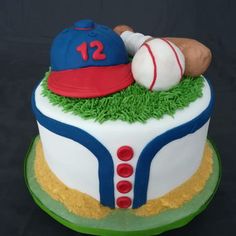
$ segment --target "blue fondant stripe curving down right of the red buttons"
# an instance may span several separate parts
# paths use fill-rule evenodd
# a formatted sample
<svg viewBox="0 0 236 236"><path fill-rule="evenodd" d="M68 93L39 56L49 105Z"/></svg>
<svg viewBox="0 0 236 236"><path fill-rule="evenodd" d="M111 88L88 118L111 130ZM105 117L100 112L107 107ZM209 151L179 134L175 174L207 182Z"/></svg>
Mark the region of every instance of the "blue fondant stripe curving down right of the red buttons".
<svg viewBox="0 0 236 236"><path fill-rule="evenodd" d="M133 208L138 208L147 202L150 167L151 162L157 152L159 152L166 144L176 139L180 139L188 134L194 133L200 129L210 118L214 105L214 96L212 87L210 84L209 86L211 90L211 100L208 107L200 115L185 124L182 124L157 136L143 149L138 159L135 172Z"/></svg>

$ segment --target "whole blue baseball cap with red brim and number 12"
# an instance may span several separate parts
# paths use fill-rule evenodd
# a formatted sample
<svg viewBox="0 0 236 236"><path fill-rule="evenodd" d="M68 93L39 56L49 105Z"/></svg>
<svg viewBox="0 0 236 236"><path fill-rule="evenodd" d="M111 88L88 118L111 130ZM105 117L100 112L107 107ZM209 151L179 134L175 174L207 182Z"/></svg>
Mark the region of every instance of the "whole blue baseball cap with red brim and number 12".
<svg viewBox="0 0 236 236"><path fill-rule="evenodd" d="M80 20L54 39L48 88L67 97L106 96L133 83L128 53L112 29Z"/></svg>

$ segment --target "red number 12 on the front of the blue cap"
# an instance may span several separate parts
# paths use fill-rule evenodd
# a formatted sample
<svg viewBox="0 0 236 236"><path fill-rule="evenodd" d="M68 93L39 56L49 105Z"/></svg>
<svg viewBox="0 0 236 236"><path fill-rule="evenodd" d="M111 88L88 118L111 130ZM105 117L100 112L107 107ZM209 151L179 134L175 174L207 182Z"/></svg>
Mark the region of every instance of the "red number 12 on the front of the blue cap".
<svg viewBox="0 0 236 236"><path fill-rule="evenodd" d="M84 61L87 61L89 59L88 46L91 48L96 48L96 50L92 54L93 60L98 61L106 59L106 54L103 53L104 49L103 43L99 40L95 40L90 42L89 44L83 42L82 44L76 47L76 51L81 53L82 59Z"/></svg>

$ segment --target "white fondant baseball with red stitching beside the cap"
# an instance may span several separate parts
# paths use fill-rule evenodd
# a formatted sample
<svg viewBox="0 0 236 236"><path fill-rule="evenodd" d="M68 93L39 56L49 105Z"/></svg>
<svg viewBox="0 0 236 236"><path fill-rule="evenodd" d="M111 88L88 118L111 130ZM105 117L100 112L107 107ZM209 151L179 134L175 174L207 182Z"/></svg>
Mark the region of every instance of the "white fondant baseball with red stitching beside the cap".
<svg viewBox="0 0 236 236"><path fill-rule="evenodd" d="M182 78L184 55L173 43L155 38L140 47L132 60L131 69L140 85L150 90L168 90Z"/></svg>

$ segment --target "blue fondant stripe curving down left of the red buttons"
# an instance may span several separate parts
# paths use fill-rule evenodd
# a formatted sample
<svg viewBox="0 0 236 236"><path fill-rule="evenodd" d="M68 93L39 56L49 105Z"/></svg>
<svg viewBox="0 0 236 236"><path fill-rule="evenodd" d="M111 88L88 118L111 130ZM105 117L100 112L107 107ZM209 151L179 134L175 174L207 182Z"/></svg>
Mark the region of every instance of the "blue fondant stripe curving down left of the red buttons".
<svg viewBox="0 0 236 236"><path fill-rule="evenodd" d="M31 104L35 117L42 126L53 133L80 143L94 154L98 160L100 202L104 206L114 208L114 165L112 156L106 147L86 131L75 126L64 124L41 113L35 103L35 90L32 94Z"/></svg>

